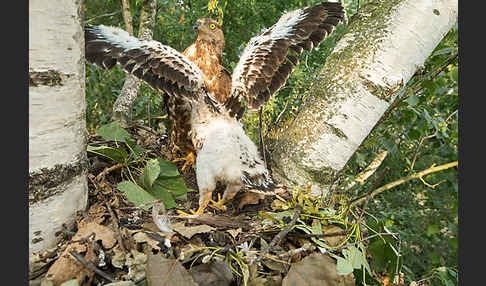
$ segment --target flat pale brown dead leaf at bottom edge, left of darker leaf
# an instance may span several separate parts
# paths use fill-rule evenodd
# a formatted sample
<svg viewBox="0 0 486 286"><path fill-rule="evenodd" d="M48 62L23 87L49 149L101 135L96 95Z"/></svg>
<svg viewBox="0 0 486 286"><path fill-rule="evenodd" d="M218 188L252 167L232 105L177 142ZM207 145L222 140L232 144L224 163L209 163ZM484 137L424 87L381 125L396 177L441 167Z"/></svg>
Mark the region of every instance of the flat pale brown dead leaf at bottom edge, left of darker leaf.
<svg viewBox="0 0 486 286"><path fill-rule="evenodd" d="M178 260L161 255L148 255L146 275L148 286L198 286Z"/></svg>

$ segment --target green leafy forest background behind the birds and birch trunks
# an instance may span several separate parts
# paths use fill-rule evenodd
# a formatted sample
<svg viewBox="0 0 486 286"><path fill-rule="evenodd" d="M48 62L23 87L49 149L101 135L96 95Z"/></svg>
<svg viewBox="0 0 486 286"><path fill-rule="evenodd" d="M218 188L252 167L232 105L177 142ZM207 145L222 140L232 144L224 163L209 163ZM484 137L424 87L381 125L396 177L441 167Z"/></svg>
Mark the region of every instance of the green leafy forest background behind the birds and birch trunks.
<svg viewBox="0 0 486 286"><path fill-rule="evenodd" d="M281 14L319 1L214 1L157 0L153 39L183 51L195 40L196 19L213 17L223 23L226 47L223 65L232 72L248 40L275 23ZM366 0L344 0L347 20ZM129 0L134 34L142 1ZM125 28L121 1L84 1L85 24ZM341 38L346 24L302 61L286 86L263 108L263 134L277 121L295 117L306 91L321 70L327 55ZM458 27L449 31L383 118L350 159L342 175L356 177L383 150L388 156L382 182L393 182L432 165L458 160ZM339 67L336 67L339 68ZM113 103L122 90L125 73L117 66L105 71L86 64L87 128L90 133L111 120ZM148 108L150 107L150 108ZM133 120L154 129L168 127L160 94L142 84ZM150 113L150 114L149 114ZM258 143L258 112L247 112L245 130ZM380 172L376 172L377 174ZM374 175L378 176L378 175ZM376 180L356 188L365 193ZM408 281L428 279L442 285L458 270L457 169L450 168L411 180L370 200L367 212L390 231L400 234L402 271ZM384 265L384 263L383 263ZM380 265L375 264L379 270ZM445 273L445 274L444 274ZM451 276L452 273L452 276ZM445 279L444 275L448 275Z"/></svg>

